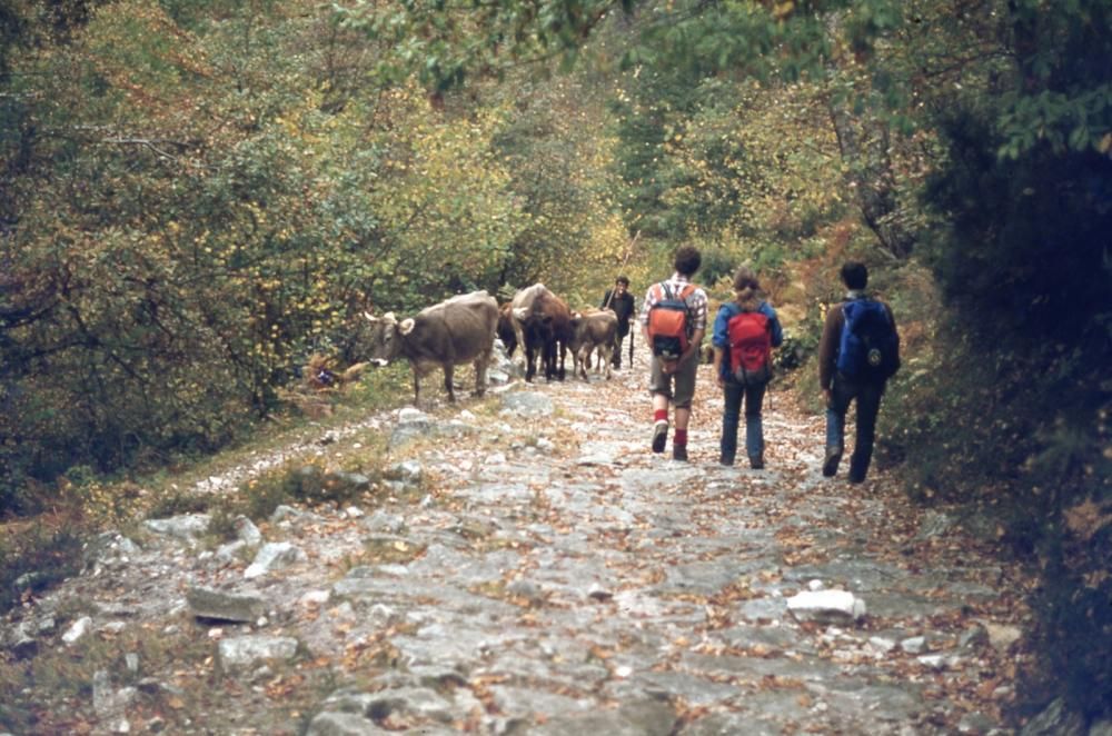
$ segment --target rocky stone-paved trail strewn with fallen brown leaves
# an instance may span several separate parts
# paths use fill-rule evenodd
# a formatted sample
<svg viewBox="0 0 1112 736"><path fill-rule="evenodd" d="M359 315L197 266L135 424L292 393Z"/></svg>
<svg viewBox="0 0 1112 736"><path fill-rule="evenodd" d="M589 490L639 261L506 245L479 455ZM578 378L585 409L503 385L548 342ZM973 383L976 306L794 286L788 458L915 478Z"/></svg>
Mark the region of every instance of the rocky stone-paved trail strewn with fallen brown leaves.
<svg viewBox="0 0 1112 736"><path fill-rule="evenodd" d="M398 478L373 505L106 535L2 621L4 666L42 673L20 707L34 733L1012 733L1019 573L883 471L822 478L822 418L781 391L766 469L721 467L702 370L687 464L648 451L638 365L368 420Z"/></svg>

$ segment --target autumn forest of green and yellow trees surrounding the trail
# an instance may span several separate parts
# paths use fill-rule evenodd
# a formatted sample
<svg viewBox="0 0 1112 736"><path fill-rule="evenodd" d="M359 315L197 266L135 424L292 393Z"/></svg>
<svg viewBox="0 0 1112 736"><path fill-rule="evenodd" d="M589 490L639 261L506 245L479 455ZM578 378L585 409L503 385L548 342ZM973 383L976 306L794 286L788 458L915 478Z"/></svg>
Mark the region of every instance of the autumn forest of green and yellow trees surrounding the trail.
<svg viewBox="0 0 1112 736"><path fill-rule="evenodd" d="M1040 571L1024 707L1106 716L1110 233L1112 0L0 0L0 607L365 311L691 243L817 408L853 257L905 340L877 461Z"/></svg>

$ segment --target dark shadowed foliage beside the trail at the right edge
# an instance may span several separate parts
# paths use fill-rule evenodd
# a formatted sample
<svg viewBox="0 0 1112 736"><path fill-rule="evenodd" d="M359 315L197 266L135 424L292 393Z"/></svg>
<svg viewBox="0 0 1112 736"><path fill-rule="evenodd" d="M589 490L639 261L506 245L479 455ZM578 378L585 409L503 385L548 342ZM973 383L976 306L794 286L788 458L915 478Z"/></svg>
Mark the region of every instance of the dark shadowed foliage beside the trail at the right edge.
<svg viewBox="0 0 1112 736"><path fill-rule="evenodd" d="M936 381L944 402L913 440L934 455L931 487L1001 496L1005 539L1046 570L1040 656L1062 679L1032 694L1061 690L1090 714L1112 703L1106 519L1088 544L1068 520L1112 498L1110 11L1012 3L1003 89L974 88L936 118L947 157L926 190L940 218L925 252L954 315L944 365L960 372Z"/></svg>

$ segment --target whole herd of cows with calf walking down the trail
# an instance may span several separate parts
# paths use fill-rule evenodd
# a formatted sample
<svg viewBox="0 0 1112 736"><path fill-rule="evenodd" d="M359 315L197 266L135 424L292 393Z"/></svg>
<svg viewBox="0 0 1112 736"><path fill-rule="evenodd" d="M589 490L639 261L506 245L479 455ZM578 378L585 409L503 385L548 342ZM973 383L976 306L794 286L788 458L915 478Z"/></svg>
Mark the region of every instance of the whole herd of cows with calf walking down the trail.
<svg viewBox="0 0 1112 736"><path fill-rule="evenodd" d="M381 317L365 314L367 358L386 365L405 358L414 374L414 401L420 401L420 379L437 367L444 370L444 389L455 401L453 371L474 364L475 392L486 389L487 366L495 338L507 354L520 347L525 380L537 374L539 358L545 378L564 380L565 357L572 352L573 372L587 378L593 351L596 369L610 377L610 357L617 332L617 317L609 309L572 311L567 304L543 284L519 290L500 308L486 291L473 291L427 307L398 321L393 312Z"/></svg>

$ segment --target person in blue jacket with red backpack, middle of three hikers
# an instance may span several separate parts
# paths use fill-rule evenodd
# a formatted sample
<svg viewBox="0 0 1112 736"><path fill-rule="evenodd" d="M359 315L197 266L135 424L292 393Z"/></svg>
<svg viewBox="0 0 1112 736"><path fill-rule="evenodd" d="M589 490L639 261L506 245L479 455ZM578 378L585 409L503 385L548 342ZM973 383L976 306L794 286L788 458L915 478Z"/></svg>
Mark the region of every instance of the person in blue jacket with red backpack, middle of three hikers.
<svg viewBox="0 0 1112 736"><path fill-rule="evenodd" d="M772 378L772 348L784 342L776 310L764 300L756 275L741 268L734 276L734 300L718 308L711 344L714 375L725 399L718 461L733 465L737 452L737 424L745 401L745 454L749 467L764 467L764 428L761 405Z"/></svg>

